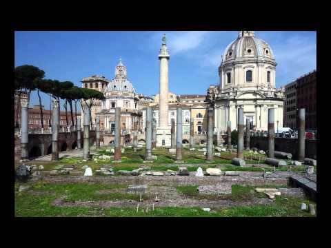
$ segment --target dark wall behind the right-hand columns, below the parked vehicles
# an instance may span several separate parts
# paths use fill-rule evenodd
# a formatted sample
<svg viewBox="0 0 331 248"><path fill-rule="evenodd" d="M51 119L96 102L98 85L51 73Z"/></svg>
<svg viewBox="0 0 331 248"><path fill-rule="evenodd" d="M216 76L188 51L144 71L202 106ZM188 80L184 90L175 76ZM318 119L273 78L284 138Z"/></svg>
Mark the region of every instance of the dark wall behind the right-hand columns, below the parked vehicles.
<svg viewBox="0 0 331 248"><path fill-rule="evenodd" d="M250 147L257 147L266 151L268 149L268 137L250 137ZM297 158L298 139L297 138L274 138L274 150L289 152L293 158ZM317 140L305 140L305 158L317 159Z"/></svg>

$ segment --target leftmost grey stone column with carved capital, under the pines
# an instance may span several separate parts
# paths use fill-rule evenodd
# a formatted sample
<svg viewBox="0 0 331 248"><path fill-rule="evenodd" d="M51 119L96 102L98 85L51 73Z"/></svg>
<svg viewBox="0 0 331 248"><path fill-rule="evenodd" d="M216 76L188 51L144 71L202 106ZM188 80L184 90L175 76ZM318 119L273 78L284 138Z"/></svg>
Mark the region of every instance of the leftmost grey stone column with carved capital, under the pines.
<svg viewBox="0 0 331 248"><path fill-rule="evenodd" d="M28 100L21 99L21 159L27 159L29 157L28 106Z"/></svg>

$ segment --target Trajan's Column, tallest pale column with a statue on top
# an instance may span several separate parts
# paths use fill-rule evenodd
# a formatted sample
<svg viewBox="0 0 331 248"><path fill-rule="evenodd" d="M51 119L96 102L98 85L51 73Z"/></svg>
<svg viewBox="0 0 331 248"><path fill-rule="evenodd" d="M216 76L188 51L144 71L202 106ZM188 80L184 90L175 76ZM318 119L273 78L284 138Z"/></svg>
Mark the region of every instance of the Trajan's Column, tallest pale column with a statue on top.
<svg viewBox="0 0 331 248"><path fill-rule="evenodd" d="M168 61L170 55L165 45L163 34L162 45L159 52L160 60L160 98L159 98L159 127L157 127L157 147L171 145L171 131L168 125Z"/></svg>

